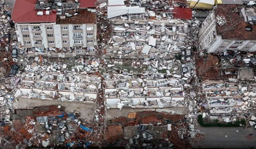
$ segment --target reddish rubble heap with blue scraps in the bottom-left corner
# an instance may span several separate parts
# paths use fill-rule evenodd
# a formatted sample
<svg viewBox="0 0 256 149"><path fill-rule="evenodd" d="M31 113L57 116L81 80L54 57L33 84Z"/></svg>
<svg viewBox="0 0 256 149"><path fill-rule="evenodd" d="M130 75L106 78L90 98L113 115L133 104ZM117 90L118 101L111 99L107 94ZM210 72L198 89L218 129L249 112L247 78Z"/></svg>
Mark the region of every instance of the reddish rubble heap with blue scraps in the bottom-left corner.
<svg viewBox="0 0 256 149"><path fill-rule="evenodd" d="M52 110L58 108L51 107ZM94 143L90 140L90 136L95 135L95 132L84 125L77 116L79 116L78 113L65 113L59 110L37 111L34 116L26 116L24 122L14 120L11 125L1 127L3 129L1 146L14 143L16 148L41 145L43 147L55 145L87 147Z"/></svg>

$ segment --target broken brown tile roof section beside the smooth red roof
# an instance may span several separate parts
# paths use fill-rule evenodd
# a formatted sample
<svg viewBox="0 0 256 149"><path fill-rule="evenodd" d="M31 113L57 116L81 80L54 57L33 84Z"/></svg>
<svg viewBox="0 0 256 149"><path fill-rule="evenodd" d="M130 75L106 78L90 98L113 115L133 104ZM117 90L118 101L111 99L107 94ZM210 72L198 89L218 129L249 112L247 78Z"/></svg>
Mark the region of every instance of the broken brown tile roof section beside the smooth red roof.
<svg viewBox="0 0 256 149"><path fill-rule="evenodd" d="M88 12L87 10L79 9L78 15L66 19L57 18L57 24L84 24L96 23L96 14Z"/></svg>

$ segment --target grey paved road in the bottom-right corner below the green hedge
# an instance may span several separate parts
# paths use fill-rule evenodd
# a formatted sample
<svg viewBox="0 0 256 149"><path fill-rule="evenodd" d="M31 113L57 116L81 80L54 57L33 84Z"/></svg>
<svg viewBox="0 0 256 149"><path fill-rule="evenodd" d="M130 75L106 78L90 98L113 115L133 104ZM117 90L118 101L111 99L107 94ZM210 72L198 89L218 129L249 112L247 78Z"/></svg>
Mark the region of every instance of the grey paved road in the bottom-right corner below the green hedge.
<svg viewBox="0 0 256 149"><path fill-rule="evenodd" d="M204 138L191 142L194 148L256 148L255 128L202 127L198 124L197 129Z"/></svg>

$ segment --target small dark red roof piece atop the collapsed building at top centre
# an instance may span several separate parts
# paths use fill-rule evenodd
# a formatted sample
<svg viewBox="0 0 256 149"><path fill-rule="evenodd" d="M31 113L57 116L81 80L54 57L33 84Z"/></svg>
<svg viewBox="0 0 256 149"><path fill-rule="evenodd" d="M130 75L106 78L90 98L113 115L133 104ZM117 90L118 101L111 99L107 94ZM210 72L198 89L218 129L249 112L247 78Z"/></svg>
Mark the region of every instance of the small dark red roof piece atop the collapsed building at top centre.
<svg viewBox="0 0 256 149"><path fill-rule="evenodd" d="M190 8L174 7L172 12L175 13L173 17L177 19L190 20L192 18L192 9Z"/></svg>

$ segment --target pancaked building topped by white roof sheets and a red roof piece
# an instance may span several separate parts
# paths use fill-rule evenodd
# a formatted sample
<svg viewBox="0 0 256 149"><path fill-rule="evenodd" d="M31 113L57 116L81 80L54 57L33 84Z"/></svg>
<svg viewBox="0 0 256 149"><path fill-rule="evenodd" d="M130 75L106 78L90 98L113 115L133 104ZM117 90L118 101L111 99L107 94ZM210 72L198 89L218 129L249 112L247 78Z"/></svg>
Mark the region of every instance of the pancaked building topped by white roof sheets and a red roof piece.
<svg viewBox="0 0 256 149"><path fill-rule="evenodd" d="M147 4L151 6L148 8ZM192 39L188 37L188 32L192 22L187 21L192 18L191 9L168 5L167 1L131 1L127 5L130 7L123 1L108 2L107 17L110 19L113 32L112 38L108 41L106 55L170 56L183 50L187 50L188 55L191 54L192 46L189 42ZM156 11L152 11L153 9ZM120 15L122 16L119 17Z"/></svg>

